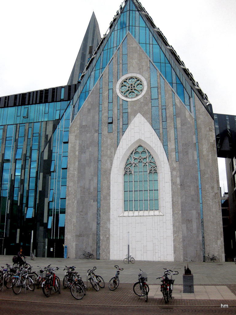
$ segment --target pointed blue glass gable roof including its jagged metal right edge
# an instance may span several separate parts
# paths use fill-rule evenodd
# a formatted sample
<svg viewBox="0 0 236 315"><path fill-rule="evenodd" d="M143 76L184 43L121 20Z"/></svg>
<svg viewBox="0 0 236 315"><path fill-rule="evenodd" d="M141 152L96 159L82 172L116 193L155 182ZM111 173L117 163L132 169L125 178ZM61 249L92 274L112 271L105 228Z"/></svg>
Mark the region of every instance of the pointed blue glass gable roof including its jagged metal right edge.
<svg viewBox="0 0 236 315"><path fill-rule="evenodd" d="M213 117L207 95L202 92L192 74L167 42L160 29L155 26L141 3L138 0L124 0L80 77L81 85L74 96L72 120L128 31L166 78L185 106L190 107L190 99L194 91Z"/></svg>

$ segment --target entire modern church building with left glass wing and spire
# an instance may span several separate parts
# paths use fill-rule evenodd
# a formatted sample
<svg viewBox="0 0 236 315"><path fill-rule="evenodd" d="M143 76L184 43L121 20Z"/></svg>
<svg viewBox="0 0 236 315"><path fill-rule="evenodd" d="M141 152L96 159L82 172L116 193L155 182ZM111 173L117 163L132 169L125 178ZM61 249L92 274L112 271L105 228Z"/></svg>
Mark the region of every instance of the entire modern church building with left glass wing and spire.
<svg viewBox="0 0 236 315"><path fill-rule="evenodd" d="M0 98L0 254L224 261L214 115L138 0L68 85Z"/></svg>

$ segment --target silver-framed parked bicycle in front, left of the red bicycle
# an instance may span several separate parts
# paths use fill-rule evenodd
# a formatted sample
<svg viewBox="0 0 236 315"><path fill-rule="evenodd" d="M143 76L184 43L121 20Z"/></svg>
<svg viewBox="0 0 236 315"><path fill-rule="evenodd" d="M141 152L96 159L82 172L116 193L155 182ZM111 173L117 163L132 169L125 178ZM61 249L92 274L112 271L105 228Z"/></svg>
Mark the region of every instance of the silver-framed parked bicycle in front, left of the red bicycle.
<svg viewBox="0 0 236 315"><path fill-rule="evenodd" d="M13 276L12 279L12 290L14 294L20 294L21 289L27 287L27 289L34 291L35 284L29 276L29 268L20 268L20 271Z"/></svg>

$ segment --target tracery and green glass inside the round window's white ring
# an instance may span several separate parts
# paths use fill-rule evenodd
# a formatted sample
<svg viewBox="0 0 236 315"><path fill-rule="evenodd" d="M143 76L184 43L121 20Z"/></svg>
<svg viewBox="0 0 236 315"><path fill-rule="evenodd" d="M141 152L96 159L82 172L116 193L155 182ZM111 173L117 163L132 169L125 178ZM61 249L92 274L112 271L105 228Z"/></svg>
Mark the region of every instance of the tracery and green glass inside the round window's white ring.
<svg viewBox="0 0 236 315"><path fill-rule="evenodd" d="M128 77L120 84L120 92L127 98L137 97L143 91L143 81L138 77Z"/></svg>

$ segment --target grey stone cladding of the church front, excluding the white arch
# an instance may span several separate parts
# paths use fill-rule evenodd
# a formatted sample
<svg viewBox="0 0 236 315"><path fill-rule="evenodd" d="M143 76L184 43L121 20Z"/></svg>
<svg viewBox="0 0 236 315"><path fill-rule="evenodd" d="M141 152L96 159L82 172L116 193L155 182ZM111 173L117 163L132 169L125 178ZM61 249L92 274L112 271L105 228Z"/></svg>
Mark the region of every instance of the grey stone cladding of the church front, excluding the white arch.
<svg viewBox="0 0 236 315"><path fill-rule="evenodd" d="M128 125L140 113L152 125L150 60L130 33L127 34L128 73L139 73L148 84L146 93L128 102ZM103 76L100 259L110 259L110 176L117 150L117 52L113 56L113 132L108 133L108 67ZM122 43L119 75L122 77ZM158 72L160 140L163 144L162 111ZM202 261L202 232L194 117L175 95L178 156L176 162L172 88L165 80L168 162L174 261ZM70 126L65 244L67 256L78 258L83 250L97 250L97 180L99 80ZM122 100L120 99L120 139ZM202 186L205 251L224 261L219 178L214 122L195 95ZM119 242L119 240L117 240Z"/></svg>

